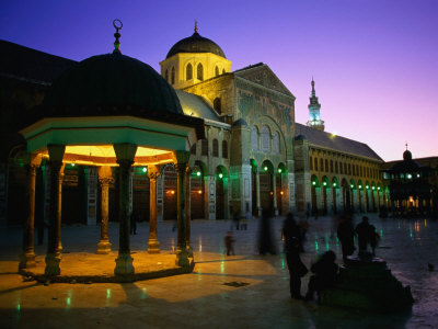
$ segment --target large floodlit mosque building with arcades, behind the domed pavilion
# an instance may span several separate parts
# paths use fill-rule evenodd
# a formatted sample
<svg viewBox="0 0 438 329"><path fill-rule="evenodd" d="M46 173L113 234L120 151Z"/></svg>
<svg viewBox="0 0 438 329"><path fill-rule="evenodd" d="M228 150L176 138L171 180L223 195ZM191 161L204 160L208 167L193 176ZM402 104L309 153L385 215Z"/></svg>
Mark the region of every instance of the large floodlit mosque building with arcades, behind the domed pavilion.
<svg viewBox="0 0 438 329"><path fill-rule="evenodd" d="M5 109L2 134L8 135L3 139L8 143L1 150L0 171L0 220L3 225L23 222L27 212L25 207L19 207L19 214L15 211L16 205L23 203L26 190L24 163L28 151L23 132L21 136L16 133L23 128L22 116L16 113L38 109L35 106L42 104L54 107L62 102L69 107L82 102L78 105L82 109L89 107L87 102L119 104L125 100L115 99L111 88L131 88L141 99L140 93L152 92L153 83L164 88L166 82L169 87L165 88L170 91L165 92L164 101L174 103L172 111L176 113L175 109L181 109L184 120L198 118L204 123L203 138L186 146L191 171L187 216L192 219L228 219L233 215L252 218L260 216L262 209L269 209L273 215L288 212L313 215L343 211L367 213L388 203L388 191L379 173L383 160L366 144L324 131L313 80L309 121L306 125L296 123L295 95L266 64L232 71L232 63L222 48L201 36L196 25L193 35L176 42L160 63L161 76L166 82L148 81L149 90L137 88L134 84L141 83L141 77L136 77L131 69L130 86L118 83L106 91L94 90L106 92L99 95L105 100L97 97L90 100L90 91L85 91L88 86L79 88L77 84L78 79L94 79L90 84L101 82L95 77L84 78L77 73L70 80L62 80L62 73L80 67L81 63L8 42L1 42L1 46L5 57L1 75ZM90 71L88 67L78 70ZM50 93L50 86L59 76L64 84L55 83ZM66 90L70 91L69 95ZM76 100L81 92L83 99ZM8 114L11 111L14 115ZM65 111L62 116L76 116L81 111L84 110L77 109L70 114ZM85 134L84 129L81 134ZM81 156L66 155L62 159L62 223L95 224L102 217L102 184L99 183L102 163L92 164L84 157L88 154L90 158L94 152L104 155L107 150L103 146L79 150L79 145L80 140L69 148L76 148ZM154 168L148 161L136 161L131 168L129 207L139 220L149 220L152 194L157 220L176 218L177 171L175 161L163 146L145 151L157 159ZM35 216L38 219L47 218L49 204L46 155L47 151L42 155L36 169ZM110 167L108 216L110 220L117 220L117 166ZM153 192L151 175L155 177ZM11 216L12 208L14 216Z"/></svg>

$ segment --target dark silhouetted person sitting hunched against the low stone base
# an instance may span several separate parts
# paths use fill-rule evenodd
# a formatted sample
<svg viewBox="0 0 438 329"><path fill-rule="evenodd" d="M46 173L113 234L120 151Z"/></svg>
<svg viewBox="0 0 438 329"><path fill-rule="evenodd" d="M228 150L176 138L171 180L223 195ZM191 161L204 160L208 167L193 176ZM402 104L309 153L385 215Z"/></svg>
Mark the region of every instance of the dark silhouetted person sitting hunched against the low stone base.
<svg viewBox="0 0 438 329"><path fill-rule="evenodd" d="M336 254L332 250L328 250L310 268L314 274L310 276L306 300L313 300L314 292L316 292L318 297L320 297L321 291L335 283L338 273L338 266L335 260Z"/></svg>

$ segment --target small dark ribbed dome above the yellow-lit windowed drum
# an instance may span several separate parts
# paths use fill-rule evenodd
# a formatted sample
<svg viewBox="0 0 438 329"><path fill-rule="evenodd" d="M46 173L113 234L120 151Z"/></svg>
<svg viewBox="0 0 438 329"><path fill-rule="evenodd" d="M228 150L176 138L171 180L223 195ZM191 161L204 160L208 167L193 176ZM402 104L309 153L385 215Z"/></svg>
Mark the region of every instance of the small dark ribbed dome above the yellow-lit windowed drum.
<svg viewBox="0 0 438 329"><path fill-rule="evenodd" d="M227 58L223 50L215 42L200 36L197 32L174 44L165 58L172 57L178 53L211 53Z"/></svg>

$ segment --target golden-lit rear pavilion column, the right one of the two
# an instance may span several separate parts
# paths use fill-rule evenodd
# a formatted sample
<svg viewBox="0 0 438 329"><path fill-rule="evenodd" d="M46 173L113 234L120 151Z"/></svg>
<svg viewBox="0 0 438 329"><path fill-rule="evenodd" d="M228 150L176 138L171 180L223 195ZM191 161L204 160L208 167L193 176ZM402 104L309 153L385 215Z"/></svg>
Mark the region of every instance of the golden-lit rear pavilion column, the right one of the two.
<svg viewBox="0 0 438 329"><path fill-rule="evenodd" d="M157 179L160 170L157 166L148 166L149 177L149 253L160 253L160 242L157 235Z"/></svg>

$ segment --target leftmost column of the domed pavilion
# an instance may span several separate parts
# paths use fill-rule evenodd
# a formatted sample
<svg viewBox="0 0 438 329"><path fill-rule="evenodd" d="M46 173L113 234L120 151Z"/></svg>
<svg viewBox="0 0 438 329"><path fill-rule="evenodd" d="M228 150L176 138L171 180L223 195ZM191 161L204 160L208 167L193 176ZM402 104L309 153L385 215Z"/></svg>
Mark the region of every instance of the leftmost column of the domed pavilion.
<svg viewBox="0 0 438 329"><path fill-rule="evenodd" d="M34 252L34 220L35 220L35 178L36 167L35 155L31 155L31 162L27 171L27 204L28 214L23 230L23 253L20 256L19 270L35 268Z"/></svg>

